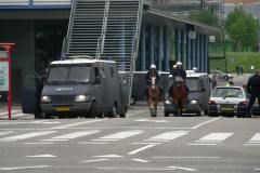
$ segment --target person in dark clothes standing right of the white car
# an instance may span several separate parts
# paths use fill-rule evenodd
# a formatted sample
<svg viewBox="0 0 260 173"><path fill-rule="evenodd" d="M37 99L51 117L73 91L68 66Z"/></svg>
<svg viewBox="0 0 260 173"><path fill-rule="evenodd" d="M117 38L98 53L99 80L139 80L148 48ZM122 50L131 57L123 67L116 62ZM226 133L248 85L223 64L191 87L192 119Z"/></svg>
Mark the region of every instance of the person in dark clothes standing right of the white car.
<svg viewBox="0 0 260 173"><path fill-rule="evenodd" d="M250 94L249 104L247 107L247 116L251 117L251 108L255 104L256 98L258 98L260 107L260 70L256 70L255 75L248 79L247 92Z"/></svg>

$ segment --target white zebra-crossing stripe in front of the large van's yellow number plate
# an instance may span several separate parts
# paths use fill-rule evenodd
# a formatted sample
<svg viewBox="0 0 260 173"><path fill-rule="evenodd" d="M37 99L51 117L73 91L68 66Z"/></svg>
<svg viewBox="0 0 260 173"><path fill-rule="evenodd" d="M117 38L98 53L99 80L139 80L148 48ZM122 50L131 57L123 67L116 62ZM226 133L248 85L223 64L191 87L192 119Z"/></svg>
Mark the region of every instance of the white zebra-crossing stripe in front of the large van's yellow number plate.
<svg viewBox="0 0 260 173"><path fill-rule="evenodd" d="M87 135L91 135L94 133L98 133L100 131L98 130L92 130L92 131L83 131L83 132L74 132L74 133L68 133L65 135L61 135L61 136L55 136L55 137L51 137L50 139L43 139L43 141L52 141L52 139L73 139L73 138L77 138L77 137L82 137L82 136L87 136Z"/></svg>

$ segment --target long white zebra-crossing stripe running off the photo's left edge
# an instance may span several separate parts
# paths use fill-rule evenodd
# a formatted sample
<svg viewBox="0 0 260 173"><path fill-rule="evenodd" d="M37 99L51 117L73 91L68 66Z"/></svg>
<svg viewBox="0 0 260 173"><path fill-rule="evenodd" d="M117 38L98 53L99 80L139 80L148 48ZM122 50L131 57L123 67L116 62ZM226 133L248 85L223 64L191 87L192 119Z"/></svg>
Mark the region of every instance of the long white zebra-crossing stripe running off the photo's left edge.
<svg viewBox="0 0 260 173"><path fill-rule="evenodd" d="M16 136L1 138L0 142L15 142L18 139L26 139L26 138L31 138L31 137L42 136L42 135L52 134L55 132L56 131L42 131L42 132L26 133L26 134L21 134L21 135L16 135Z"/></svg>

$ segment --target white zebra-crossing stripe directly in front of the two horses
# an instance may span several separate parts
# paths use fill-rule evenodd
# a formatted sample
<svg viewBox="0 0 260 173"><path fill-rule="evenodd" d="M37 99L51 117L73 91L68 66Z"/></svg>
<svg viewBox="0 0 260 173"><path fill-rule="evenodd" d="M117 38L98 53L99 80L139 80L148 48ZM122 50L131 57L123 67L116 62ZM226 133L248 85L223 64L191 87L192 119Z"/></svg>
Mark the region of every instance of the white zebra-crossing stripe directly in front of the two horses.
<svg viewBox="0 0 260 173"><path fill-rule="evenodd" d="M159 142L169 142L172 139L176 139L178 137L181 137L185 134L187 134L187 131L172 131L172 132L166 132L156 136L153 136L146 141L159 141Z"/></svg>

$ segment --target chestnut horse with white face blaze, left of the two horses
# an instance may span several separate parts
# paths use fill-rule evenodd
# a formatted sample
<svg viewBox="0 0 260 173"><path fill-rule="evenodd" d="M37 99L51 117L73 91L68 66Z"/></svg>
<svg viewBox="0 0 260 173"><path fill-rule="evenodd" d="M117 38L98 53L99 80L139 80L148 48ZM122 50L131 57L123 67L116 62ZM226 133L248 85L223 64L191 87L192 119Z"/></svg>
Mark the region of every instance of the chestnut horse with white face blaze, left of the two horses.
<svg viewBox="0 0 260 173"><path fill-rule="evenodd" d="M151 85L148 86L148 107L151 117L156 117L159 102L159 88L156 84L156 76L151 77Z"/></svg>

